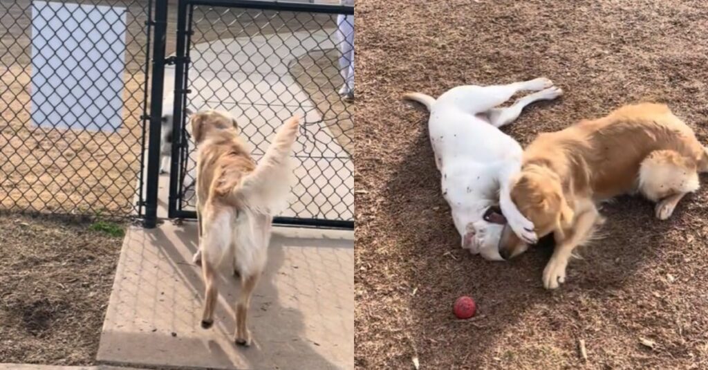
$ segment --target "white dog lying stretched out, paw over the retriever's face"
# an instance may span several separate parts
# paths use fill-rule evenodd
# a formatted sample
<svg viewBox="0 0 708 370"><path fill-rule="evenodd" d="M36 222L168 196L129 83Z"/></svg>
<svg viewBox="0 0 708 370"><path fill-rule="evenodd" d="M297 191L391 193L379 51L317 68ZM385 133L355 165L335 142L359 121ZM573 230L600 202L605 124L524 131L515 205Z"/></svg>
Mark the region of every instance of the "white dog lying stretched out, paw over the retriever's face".
<svg viewBox="0 0 708 370"><path fill-rule="evenodd" d="M496 108L518 91L537 91L507 108ZM428 107L428 132L435 164L442 174L442 196L452 209L452 220L462 247L491 260L503 260L499 241L504 225L525 242L534 244L534 225L511 201L508 186L520 171L521 146L502 133L522 109L539 100L556 99L561 89L538 78L495 86L457 86L438 100L420 93L404 99Z"/></svg>

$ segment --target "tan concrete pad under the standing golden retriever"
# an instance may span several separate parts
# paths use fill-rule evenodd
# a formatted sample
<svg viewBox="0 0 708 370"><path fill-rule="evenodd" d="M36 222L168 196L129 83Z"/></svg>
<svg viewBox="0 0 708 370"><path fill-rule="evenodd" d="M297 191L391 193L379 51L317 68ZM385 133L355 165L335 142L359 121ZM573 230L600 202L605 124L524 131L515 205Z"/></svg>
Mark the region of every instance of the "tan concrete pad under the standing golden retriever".
<svg viewBox="0 0 708 370"><path fill-rule="evenodd" d="M191 264L195 223L127 231L98 361L210 369L353 369L353 231L275 228L251 301L253 346L233 343L237 281L220 282L202 330L204 286Z"/></svg>

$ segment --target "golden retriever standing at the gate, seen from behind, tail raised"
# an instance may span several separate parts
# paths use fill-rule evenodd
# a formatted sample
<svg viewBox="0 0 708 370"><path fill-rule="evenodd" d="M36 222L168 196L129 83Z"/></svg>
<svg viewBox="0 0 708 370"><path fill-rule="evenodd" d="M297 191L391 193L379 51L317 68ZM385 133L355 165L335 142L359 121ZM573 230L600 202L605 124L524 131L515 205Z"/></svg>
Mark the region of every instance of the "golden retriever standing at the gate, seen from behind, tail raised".
<svg viewBox="0 0 708 370"><path fill-rule="evenodd" d="M217 303L215 273L230 262L241 279L236 303L236 344L251 344L246 327L251 293L265 267L273 215L287 205L290 193L288 157L297 138L299 118L287 120L258 164L239 138L229 113L202 111L191 118L198 147L197 217L199 250L206 293L202 327L214 323Z"/></svg>

